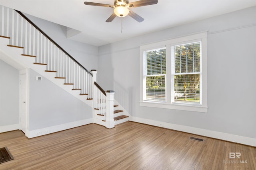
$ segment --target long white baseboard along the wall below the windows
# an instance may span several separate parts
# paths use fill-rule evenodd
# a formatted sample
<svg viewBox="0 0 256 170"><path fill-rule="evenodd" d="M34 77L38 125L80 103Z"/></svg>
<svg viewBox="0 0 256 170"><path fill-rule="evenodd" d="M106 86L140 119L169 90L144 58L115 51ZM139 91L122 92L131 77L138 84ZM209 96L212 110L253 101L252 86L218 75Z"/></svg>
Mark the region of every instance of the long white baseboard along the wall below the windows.
<svg viewBox="0 0 256 170"><path fill-rule="evenodd" d="M154 120L144 119L144 118L140 118L140 117L131 117L130 121L144 123L144 124L158 126L158 127L164 127L164 128L173 129L176 131L182 131L182 132L192 133L192 134L196 134L196 135L202 135L202 136L206 136L206 137L211 137L211 138L221 139L224 141L230 141L230 142L234 142L234 143L240 143L240 144L256 147L256 139L255 138L238 136L238 135L217 132L217 131L210 131L210 130L200 129L200 128L196 128L196 127L176 125L176 124L166 123L166 122L161 122L161 121L154 121Z"/></svg>

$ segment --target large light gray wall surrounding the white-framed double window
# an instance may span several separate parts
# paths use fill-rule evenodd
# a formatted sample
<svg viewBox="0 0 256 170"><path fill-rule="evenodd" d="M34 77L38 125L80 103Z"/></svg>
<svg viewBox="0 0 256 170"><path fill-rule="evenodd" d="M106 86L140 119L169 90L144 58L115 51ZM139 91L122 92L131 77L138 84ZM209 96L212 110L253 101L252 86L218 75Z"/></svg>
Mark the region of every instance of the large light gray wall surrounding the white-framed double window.
<svg viewBox="0 0 256 170"><path fill-rule="evenodd" d="M98 82L134 117L256 138L256 6L99 47ZM208 112L142 107L139 45L208 30Z"/></svg>

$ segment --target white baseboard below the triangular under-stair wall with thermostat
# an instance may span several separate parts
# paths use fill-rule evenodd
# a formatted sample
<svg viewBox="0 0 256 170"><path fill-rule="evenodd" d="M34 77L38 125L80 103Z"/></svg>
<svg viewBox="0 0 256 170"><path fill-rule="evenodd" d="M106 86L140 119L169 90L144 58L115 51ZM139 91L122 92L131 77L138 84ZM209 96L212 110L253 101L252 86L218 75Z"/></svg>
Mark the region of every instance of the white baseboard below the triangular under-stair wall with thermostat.
<svg viewBox="0 0 256 170"><path fill-rule="evenodd" d="M28 138L38 137L38 136L55 133L58 131L63 131L66 129L71 129L71 128L82 126L82 125L87 125L90 123L92 123L92 118L84 119L84 120L80 120L80 121L74 121L74 122L65 123L65 124L56 125L56 126L51 126L51 127L45 127L42 129L28 131L28 133L26 133L26 137L28 137Z"/></svg>

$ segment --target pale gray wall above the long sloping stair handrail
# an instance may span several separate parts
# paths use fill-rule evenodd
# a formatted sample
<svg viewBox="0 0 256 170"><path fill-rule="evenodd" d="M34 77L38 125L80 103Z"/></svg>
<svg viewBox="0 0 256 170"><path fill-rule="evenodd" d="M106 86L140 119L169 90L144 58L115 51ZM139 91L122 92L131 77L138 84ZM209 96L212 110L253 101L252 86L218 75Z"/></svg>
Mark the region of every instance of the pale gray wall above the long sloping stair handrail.
<svg viewBox="0 0 256 170"><path fill-rule="evenodd" d="M98 47L66 38L66 27L25 14L88 71L98 69Z"/></svg>

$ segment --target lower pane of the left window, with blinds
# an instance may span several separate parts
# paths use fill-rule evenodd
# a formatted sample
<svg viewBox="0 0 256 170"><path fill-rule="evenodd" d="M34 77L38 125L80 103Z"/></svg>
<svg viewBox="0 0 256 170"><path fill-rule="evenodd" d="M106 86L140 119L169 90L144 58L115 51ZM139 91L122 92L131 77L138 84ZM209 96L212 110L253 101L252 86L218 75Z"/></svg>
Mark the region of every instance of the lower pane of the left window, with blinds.
<svg viewBox="0 0 256 170"><path fill-rule="evenodd" d="M165 75L146 76L146 100L165 102Z"/></svg>

